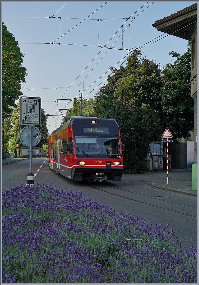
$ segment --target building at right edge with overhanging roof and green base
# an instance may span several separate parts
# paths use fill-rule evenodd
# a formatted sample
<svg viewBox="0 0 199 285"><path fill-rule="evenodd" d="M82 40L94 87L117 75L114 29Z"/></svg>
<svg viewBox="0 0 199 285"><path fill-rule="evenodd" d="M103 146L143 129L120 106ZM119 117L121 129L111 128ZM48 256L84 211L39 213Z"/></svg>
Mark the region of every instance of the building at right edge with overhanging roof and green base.
<svg viewBox="0 0 199 285"><path fill-rule="evenodd" d="M192 164L192 190L198 185L198 4L195 3L177 13L155 21L151 26L158 31L191 41L191 97L194 100L194 163Z"/></svg>

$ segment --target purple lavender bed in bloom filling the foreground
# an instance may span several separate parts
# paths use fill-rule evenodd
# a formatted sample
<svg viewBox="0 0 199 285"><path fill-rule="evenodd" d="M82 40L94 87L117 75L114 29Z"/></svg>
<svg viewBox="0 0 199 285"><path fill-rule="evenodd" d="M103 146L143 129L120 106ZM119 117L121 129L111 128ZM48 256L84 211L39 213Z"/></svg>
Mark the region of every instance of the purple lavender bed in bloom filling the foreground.
<svg viewBox="0 0 199 285"><path fill-rule="evenodd" d="M70 190L2 194L2 283L197 283L197 246Z"/></svg>

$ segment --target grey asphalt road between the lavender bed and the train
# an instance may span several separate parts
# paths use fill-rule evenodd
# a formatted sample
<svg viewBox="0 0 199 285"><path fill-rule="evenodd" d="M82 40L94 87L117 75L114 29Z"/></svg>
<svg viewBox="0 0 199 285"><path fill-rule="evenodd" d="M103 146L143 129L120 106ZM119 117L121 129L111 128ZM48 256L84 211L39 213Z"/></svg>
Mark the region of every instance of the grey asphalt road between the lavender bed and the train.
<svg viewBox="0 0 199 285"><path fill-rule="evenodd" d="M139 215L146 223L153 225L162 224L164 227L169 224L179 235L182 248L196 245L197 198L155 190L147 184L142 186L140 181L134 180L133 174L124 174L121 181L73 182L50 169L48 160L45 160L32 159L32 172L37 173L34 178L36 184L52 184L60 189L82 191L91 200L109 205L119 213ZM2 192L26 184L28 172L28 159L2 165Z"/></svg>

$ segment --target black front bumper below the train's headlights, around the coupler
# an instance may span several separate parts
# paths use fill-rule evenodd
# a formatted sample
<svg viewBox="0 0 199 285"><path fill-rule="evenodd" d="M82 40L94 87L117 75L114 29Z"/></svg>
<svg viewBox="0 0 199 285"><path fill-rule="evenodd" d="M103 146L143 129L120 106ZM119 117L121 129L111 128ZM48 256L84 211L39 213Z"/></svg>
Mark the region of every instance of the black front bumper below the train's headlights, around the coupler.
<svg viewBox="0 0 199 285"><path fill-rule="evenodd" d="M71 180L72 181L83 181L83 180L94 181L98 173L103 173L104 177L107 176L106 180L120 181L122 178L123 168L73 168L71 171Z"/></svg>

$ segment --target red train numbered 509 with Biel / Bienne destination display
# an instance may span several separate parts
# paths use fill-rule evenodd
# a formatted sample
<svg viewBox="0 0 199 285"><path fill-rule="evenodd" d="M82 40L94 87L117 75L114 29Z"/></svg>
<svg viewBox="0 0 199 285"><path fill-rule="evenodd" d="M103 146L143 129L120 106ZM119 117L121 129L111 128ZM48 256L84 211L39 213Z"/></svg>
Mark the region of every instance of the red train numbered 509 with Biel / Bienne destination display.
<svg viewBox="0 0 199 285"><path fill-rule="evenodd" d="M122 146L115 119L74 116L51 134L48 162L72 181L120 181Z"/></svg>

